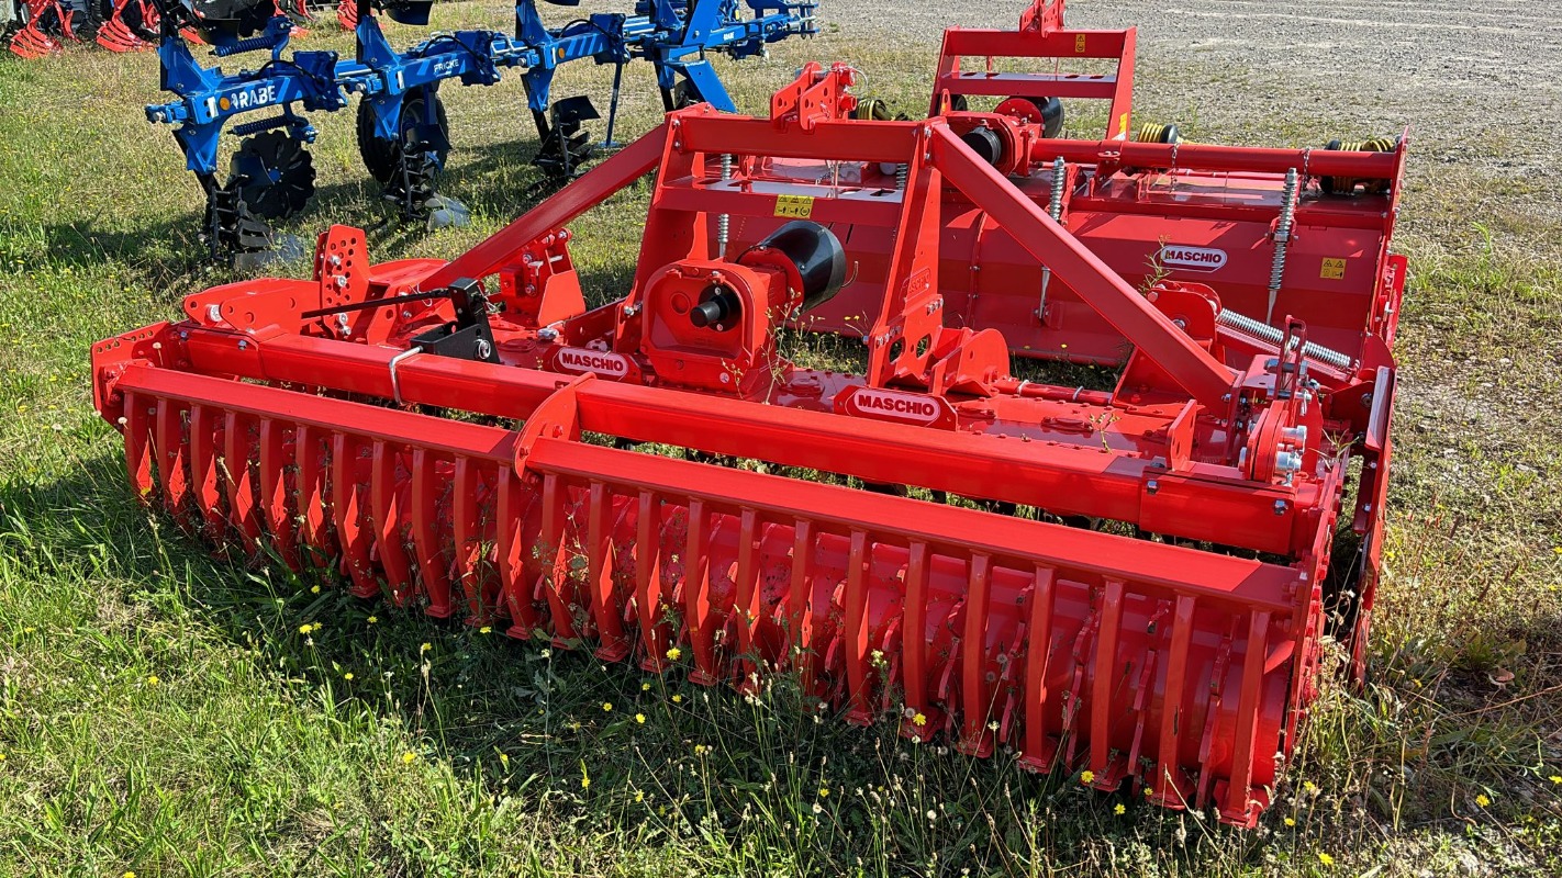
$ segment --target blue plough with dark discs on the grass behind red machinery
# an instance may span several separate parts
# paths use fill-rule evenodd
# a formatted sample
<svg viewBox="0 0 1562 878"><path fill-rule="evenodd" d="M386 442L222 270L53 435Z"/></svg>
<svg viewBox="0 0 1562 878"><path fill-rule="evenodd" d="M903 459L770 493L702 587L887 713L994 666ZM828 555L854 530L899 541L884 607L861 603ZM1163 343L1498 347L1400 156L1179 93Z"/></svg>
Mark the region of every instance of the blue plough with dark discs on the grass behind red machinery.
<svg viewBox="0 0 1562 878"><path fill-rule="evenodd" d="M447 83L490 86L506 69L523 72L531 122L537 129L536 164L551 178L570 179L590 158L581 123L598 119L586 97L553 100L553 76L561 64L592 59L614 65L608 145L612 145L623 65L644 58L656 65L669 109L709 101L731 111L733 101L711 65L711 53L748 58L770 42L815 33L811 0L640 0L634 14L592 14L548 28L537 0L515 5L515 36L495 31L436 34L408 51L386 41L373 8L403 23L426 25L431 0L389 0L370 5L350 0L339 11L358 39L358 51L342 59L334 51L287 51L294 19L273 14L270 5L247 0L200 0L173 6L158 47L162 87L178 100L147 108L155 123L177 125L186 164L206 192L205 232L216 254L266 251L269 223L295 215L314 193L314 165L308 145L316 129L309 111L347 109L358 101L358 143L369 173L384 187L403 218L450 225L465 211L436 192L437 175L450 151L448 120L439 89ZM561 0L550 0L561 2ZM573 3L564 3L573 5ZM198 30L217 56L267 53L256 69L225 73L201 67L175 30ZM244 140L234 150L226 179L219 179L219 139L230 119Z"/></svg>

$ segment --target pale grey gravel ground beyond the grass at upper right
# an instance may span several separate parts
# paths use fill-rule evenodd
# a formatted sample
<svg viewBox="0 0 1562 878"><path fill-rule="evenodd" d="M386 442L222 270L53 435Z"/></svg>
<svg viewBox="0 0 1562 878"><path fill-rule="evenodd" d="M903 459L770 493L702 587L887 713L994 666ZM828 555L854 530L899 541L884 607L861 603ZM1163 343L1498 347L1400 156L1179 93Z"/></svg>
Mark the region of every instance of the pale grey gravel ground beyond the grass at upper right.
<svg viewBox="0 0 1562 878"><path fill-rule="evenodd" d="M937 41L951 23L1009 28L1028 3L826 0L843 28ZM1139 56L1240 67L1287 80L1298 92L1350 94L1404 108L1412 122L1450 128L1464 114L1493 123L1556 119L1562 101L1562 3L1329 3L1323 14L1268 0L1070 3L1073 28L1139 28ZM1148 72L1148 70L1147 70Z"/></svg>

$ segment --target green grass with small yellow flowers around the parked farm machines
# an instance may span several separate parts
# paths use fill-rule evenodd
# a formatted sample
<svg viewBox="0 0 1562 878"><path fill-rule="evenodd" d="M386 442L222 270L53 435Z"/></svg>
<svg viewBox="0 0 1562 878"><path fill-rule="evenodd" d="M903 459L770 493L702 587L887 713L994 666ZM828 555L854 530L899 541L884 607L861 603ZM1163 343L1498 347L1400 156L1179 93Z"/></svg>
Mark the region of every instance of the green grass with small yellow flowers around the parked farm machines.
<svg viewBox="0 0 1562 878"><path fill-rule="evenodd" d="M934 47L886 45L831 28L723 75L762 111L801 61L851 58L915 109ZM659 108L647 70L629 131ZM1179 83L1236 104L1273 84L1196 58L1140 76L1142 117L1179 122ZM569 67L559 94L604 86ZM200 192L153 100L145 55L0 59L0 873L1562 875L1562 225L1525 209L1532 176L1443 161L1496 161L1501 133L1426 131L1406 198L1371 683L1326 686L1275 808L1237 833L804 716L784 685L745 699L245 569L144 515L87 348L233 276L201 260ZM378 259L456 254L537 196L519 84L447 101L444 189L476 221L376 228ZM1318 139L1279 111L1187 122ZM320 196L289 231L380 223L351 114L317 125ZM576 223L615 242L575 251L597 295L633 265L644 201Z"/></svg>

